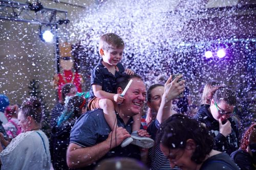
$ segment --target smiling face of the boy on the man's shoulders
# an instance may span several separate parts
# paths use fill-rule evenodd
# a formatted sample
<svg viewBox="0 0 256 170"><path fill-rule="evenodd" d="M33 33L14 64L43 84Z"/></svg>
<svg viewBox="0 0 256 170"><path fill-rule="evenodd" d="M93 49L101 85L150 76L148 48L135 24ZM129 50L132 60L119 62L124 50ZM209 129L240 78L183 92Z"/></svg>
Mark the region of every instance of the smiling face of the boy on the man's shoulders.
<svg viewBox="0 0 256 170"><path fill-rule="evenodd" d="M108 51L101 48L100 55L106 64L116 66L123 57L123 48L110 48Z"/></svg>

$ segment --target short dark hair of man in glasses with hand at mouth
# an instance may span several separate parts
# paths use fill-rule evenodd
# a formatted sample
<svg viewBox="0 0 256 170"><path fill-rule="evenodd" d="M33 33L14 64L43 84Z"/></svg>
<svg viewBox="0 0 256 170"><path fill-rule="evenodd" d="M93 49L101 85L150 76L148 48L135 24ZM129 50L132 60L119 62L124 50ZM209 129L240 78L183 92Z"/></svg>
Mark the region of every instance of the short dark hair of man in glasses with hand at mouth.
<svg viewBox="0 0 256 170"><path fill-rule="evenodd" d="M237 104L236 92L228 87L220 87L216 90L213 99L216 103L224 101L231 106L235 106Z"/></svg>

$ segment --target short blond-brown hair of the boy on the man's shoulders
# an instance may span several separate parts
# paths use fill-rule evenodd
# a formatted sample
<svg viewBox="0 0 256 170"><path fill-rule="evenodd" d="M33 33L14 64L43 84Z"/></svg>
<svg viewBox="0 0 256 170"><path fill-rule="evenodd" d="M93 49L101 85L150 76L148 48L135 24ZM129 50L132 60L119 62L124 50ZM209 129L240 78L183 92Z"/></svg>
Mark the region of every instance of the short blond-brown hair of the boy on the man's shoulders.
<svg viewBox="0 0 256 170"><path fill-rule="evenodd" d="M99 39L99 51L101 48L105 51L109 51L111 48L124 48L124 42L114 33L103 34Z"/></svg>

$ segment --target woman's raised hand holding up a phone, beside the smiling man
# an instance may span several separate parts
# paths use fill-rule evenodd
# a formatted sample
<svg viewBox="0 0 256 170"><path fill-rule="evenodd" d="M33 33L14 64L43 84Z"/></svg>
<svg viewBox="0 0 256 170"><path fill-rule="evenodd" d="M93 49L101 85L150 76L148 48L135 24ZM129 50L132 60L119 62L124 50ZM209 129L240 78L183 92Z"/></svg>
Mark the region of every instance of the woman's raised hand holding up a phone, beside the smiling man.
<svg viewBox="0 0 256 170"><path fill-rule="evenodd" d="M168 78L166 83L164 84L164 95L167 101L173 100L176 98L182 91L185 90L185 80L180 81L177 83L177 81L183 77L183 75L177 76L173 81L172 81L172 76Z"/></svg>

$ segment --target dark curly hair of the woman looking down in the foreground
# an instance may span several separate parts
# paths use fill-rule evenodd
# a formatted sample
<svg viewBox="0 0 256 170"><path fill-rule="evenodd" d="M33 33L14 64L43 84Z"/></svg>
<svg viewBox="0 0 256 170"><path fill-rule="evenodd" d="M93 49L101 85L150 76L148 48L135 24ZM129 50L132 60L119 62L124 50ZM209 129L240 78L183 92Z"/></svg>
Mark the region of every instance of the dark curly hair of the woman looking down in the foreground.
<svg viewBox="0 0 256 170"><path fill-rule="evenodd" d="M203 125L184 114L174 114L165 120L158 131L156 143L161 142L168 149L184 150L188 139L196 143L191 160L197 164L202 163L214 148L214 139Z"/></svg>

